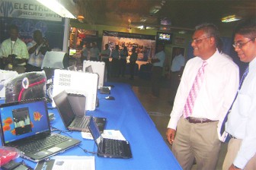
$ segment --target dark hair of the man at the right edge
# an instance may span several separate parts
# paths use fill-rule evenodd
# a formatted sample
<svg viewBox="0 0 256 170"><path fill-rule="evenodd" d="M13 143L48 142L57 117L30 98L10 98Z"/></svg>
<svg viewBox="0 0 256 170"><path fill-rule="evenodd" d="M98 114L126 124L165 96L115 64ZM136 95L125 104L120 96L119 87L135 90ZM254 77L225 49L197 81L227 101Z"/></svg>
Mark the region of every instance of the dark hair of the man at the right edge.
<svg viewBox="0 0 256 170"><path fill-rule="evenodd" d="M241 34L248 39L256 38L256 19L249 18L247 20L242 20L242 22L235 28L234 34Z"/></svg>

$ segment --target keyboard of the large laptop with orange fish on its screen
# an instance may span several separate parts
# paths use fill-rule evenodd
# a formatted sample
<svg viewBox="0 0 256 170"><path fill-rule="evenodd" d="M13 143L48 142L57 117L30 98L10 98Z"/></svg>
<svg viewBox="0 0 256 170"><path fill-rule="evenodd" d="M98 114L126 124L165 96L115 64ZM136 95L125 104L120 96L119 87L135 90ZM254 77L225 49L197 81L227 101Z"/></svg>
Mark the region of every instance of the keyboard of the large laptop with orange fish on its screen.
<svg viewBox="0 0 256 170"><path fill-rule="evenodd" d="M36 140L31 143L27 143L24 146L18 146L17 149L23 151L24 153L35 153L39 150L46 150L56 144L62 143L63 141L69 140L66 137L59 135L52 135L41 140Z"/></svg>

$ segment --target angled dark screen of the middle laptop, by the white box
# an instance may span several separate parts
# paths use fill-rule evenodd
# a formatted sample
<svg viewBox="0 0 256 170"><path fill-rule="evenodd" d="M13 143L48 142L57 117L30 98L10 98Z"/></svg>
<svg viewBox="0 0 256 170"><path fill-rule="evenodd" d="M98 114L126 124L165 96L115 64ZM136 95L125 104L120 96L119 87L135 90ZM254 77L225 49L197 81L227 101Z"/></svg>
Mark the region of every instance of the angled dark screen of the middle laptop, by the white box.
<svg viewBox="0 0 256 170"><path fill-rule="evenodd" d="M68 93L66 93L66 91L64 90L54 96L53 100L57 106L59 115L61 115L61 118L64 121L64 124L66 125L66 127L69 126L69 124L71 124L71 122L75 118L75 113L69 103Z"/></svg>

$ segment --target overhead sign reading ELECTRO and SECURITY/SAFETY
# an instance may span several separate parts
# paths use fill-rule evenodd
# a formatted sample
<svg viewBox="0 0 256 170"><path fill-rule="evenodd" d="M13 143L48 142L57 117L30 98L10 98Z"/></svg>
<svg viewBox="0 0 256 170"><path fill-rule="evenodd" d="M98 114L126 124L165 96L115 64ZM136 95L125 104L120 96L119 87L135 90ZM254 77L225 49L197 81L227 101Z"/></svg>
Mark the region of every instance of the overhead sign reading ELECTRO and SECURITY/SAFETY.
<svg viewBox="0 0 256 170"><path fill-rule="evenodd" d="M0 17L62 21L62 17L35 0L0 0Z"/></svg>

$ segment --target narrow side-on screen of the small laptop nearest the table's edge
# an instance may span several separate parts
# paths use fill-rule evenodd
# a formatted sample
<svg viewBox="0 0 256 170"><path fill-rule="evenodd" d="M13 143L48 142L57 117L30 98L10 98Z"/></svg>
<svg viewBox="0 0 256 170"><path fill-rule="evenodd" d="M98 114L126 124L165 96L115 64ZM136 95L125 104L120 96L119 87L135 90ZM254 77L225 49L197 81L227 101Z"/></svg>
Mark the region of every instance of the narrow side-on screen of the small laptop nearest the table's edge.
<svg viewBox="0 0 256 170"><path fill-rule="evenodd" d="M102 143L101 143L101 132L98 129L98 126L96 125L94 118L91 116L90 122L88 124L88 128L91 132L92 137L94 138L95 143L98 146L98 150L102 152Z"/></svg>

